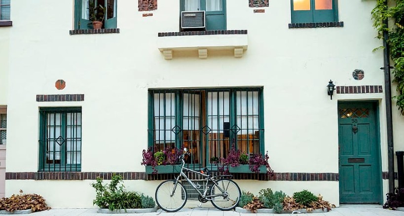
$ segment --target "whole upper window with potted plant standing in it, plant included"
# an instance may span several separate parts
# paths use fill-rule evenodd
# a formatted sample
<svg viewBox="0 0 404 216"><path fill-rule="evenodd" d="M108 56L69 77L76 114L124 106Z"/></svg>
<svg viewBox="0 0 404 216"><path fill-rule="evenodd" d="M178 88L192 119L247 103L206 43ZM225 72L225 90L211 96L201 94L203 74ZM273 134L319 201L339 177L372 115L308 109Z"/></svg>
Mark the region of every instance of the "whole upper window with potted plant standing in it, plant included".
<svg viewBox="0 0 404 216"><path fill-rule="evenodd" d="M116 29L117 0L74 0L74 29Z"/></svg>

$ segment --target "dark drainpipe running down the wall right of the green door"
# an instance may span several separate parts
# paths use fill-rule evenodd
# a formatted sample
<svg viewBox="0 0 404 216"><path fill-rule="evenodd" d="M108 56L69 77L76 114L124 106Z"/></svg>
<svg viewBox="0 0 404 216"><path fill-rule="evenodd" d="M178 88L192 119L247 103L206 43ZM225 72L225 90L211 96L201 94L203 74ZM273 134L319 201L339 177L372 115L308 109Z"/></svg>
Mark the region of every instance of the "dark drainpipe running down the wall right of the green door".
<svg viewBox="0 0 404 216"><path fill-rule="evenodd" d="M387 5L387 0L384 1ZM388 28L388 19L383 20L383 25ZM387 121L387 153L389 161L389 193L394 193L394 145L393 145L393 117L391 111L391 77L390 77L390 47L387 43L389 39L388 31L383 31L384 46L384 88L386 101L386 121Z"/></svg>

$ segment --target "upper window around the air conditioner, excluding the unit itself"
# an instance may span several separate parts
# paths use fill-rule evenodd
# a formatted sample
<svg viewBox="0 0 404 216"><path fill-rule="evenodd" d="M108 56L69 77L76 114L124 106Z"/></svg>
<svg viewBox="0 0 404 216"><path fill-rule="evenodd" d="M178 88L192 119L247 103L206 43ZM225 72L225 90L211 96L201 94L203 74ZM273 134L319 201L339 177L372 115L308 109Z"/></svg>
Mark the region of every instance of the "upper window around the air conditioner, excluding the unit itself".
<svg viewBox="0 0 404 216"><path fill-rule="evenodd" d="M205 11L205 29L226 30L226 0L181 0L182 11ZM198 28L195 28L198 29ZM181 31L194 31L182 29Z"/></svg>

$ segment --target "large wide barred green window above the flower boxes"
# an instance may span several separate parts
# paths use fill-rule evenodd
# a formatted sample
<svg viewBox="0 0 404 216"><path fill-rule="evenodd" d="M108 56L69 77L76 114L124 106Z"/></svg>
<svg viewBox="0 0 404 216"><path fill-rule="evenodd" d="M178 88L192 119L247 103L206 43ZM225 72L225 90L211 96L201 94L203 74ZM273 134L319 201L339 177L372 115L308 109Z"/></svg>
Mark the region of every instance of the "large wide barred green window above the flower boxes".
<svg viewBox="0 0 404 216"><path fill-rule="evenodd" d="M263 87L149 89L148 147L187 147L204 167L237 149L264 153Z"/></svg>

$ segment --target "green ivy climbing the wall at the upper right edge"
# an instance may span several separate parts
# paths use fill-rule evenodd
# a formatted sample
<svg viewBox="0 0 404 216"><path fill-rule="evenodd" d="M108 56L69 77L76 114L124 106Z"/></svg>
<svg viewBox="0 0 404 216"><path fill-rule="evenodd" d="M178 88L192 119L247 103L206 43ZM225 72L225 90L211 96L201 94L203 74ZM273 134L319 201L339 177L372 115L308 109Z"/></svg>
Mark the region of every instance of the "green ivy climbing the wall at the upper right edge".
<svg viewBox="0 0 404 216"><path fill-rule="evenodd" d="M388 5L394 5L388 7ZM383 39L383 31L387 31L390 46L390 57L394 62L393 82L397 84L398 95L393 97L397 107L404 114L404 0L377 0L372 10L373 27L377 29L377 38ZM394 22L392 28L387 28L383 20ZM384 47L378 47L384 48ZM376 49L378 49L376 48Z"/></svg>

